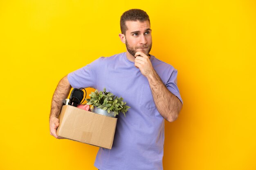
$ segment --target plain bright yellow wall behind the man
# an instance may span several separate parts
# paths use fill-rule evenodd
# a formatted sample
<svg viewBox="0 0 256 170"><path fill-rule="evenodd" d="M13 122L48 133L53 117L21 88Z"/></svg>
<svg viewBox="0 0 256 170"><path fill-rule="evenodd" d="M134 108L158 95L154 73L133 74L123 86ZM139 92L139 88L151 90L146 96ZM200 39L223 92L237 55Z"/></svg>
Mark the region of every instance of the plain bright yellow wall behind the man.
<svg viewBox="0 0 256 170"><path fill-rule="evenodd" d="M51 98L69 72L125 51L132 8L150 16L150 53L178 70L184 100L164 170L256 170L254 0L0 0L1 170L96 169L97 147L49 134Z"/></svg>

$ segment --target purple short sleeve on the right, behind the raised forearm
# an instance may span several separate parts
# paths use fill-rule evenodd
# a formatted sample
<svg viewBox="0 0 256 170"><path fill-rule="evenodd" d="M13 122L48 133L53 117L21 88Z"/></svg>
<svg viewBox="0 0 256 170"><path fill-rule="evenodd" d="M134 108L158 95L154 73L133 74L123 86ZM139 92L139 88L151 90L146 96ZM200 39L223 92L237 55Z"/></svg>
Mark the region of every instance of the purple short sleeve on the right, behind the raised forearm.
<svg viewBox="0 0 256 170"><path fill-rule="evenodd" d="M175 96L177 96L177 98L179 98L179 100L182 102L183 104L183 100L180 96L180 91L178 89L177 86L177 70L173 70L173 72L171 73L170 78L168 79L167 83L166 83L166 88Z"/></svg>

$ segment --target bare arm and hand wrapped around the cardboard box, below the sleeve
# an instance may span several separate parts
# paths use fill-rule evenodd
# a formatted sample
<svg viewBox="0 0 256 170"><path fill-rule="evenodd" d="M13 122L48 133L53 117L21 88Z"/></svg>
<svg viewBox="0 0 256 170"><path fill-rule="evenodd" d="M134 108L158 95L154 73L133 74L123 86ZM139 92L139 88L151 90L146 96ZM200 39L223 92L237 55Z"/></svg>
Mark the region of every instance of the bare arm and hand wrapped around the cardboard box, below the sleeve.
<svg viewBox="0 0 256 170"><path fill-rule="evenodd" d="M61 107L63 106L62 100L67 98L67 95L70 93L70 89L71 85L67 80L67 76L65 76L61 81L59 81L52 96L51 113L49 116L50 134L57 139L62 139L62 137L58 137L56 134L57 127L59 126L58 115L60 114Z"/></svg>

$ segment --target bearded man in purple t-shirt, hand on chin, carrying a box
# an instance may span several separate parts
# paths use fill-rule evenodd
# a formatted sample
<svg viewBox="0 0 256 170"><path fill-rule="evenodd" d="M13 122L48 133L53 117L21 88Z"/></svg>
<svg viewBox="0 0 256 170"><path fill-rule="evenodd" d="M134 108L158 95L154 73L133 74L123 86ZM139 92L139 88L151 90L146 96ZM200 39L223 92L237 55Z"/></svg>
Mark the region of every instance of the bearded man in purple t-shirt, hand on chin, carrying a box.
<svg viewBox="0 0 256 170"><path fill-rule="evenodd" d="M126 11L119 37L126 52L100 57L59 82L52 98L50 133L56 135L61 100L74 88L104 87L122 96L131 108L118 116L112 149L99 148L94 166L100 170L162 170L164 119L173 122L182 109L177 70L150 55L150 20L139 9Z"/></svg>

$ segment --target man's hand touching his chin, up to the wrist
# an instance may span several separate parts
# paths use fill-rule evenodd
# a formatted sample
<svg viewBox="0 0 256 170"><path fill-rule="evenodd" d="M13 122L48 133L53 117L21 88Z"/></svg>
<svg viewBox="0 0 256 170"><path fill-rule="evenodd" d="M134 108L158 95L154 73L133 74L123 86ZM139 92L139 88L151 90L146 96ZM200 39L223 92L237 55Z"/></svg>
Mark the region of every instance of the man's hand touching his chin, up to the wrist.
<svg viewBox="0 0 256 170"><path fill-rule="evenodd" d="M137 68L139 68L141 74L145 77L149 76L154 71L149 56L147 56L144 52L141 51L135 53L134 65Z"/></svg>

